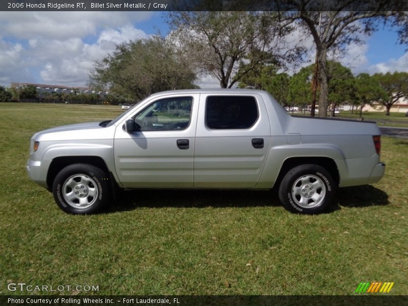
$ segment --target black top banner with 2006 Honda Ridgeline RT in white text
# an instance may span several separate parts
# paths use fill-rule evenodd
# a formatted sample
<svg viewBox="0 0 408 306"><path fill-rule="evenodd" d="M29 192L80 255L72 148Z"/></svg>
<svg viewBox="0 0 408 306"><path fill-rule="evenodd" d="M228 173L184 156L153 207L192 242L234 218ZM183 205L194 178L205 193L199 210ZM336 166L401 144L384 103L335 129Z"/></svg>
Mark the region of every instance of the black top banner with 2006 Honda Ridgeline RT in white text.
<svg viewBox="0 0 408 306"><path fill-rule="evenodd" d="M407 0L9 0L0 11L407 11Z"/></svg>

